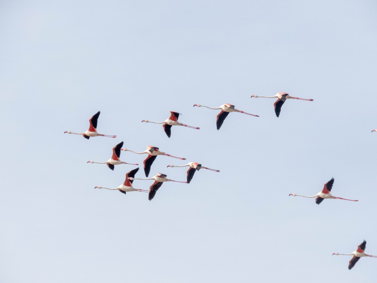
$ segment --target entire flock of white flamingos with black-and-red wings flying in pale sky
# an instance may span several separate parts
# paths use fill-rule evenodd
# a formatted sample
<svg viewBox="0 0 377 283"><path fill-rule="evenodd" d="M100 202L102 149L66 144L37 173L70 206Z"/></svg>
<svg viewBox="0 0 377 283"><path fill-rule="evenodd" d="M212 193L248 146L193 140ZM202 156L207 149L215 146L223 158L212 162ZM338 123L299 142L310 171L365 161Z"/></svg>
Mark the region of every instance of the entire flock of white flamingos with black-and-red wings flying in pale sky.
<svg viewBox="0 0 377 283"><path fill-rule="evenodd" d="M313 101L313 99L291 97L289 94L287 94L285 92L279 92L274 96L251 95L251 97L277 98L276 102L274 103L274 109L275 109L276 117L279 117L282 105L284 104L285 100L287 100L289 98ZM200 105L200 104L194 104L194 106L221 110L220 113L217 115L217 119L216 119L216 127L217 127L218 130L221 128L222 123L224 122L225 118L228 116L228 114L230 112L239 112L239 113L259 117L258 115L254 115L254 114L250 114L250 113L246 113L244 111L238 110L238 109L234 108L234 105L231 105L231 104L224 104L224 105L221 105L221 106L216 107L216 108L211 108L211 107ZM99 137L99 136L115 138L116 135L104 135L104 134L99 134L97 132L97 122L98 122L99 116L100 116L100 111L98 111L96 114L93 115L92 118L90 118L89 129L86 132L74 133L74 132L65 131L64 133L83 135L83 137L87 138L88 140L89 140L90 137ZM170 111L170 117L167 118L163 122L151 122L151 121L148 121L148 120L143 120L141 122L163 124L162 127L164 128L164 131L169 138L170 138L170 135L171 135L172 126L184 126L184 127L188 127L188 128L192 128L192 129L200 129L199 127L188 126L188 125L185 125L185 124L178 122L178 117L179 117L178 112ZM375 132L375 131L377 131L377 129L372 130L372 132ZM120 158L120 152L122 150L123 151L131 151L131 152L134 152L136 154L147 154L148 156L144 160L143 163L144 163L144 173L145 173L146 177L148 177L149 172L150 172L150 168L153 164L153 161L155 161L157 155L166 155L166 156L170 156L170 157L174 157L174 158L178 158L178 159L182 159L182 160L186 159L186 158L176 157L176 156L167 154L165 152L159 151L159 148L157 148L155 146L147 146L147 149L145 151L142 151L142 152L135 152L135 151L132 151L130 149L122 148L122 146L123 146L123 141L118 143L116 146L114 146L112 157L105 162L95 162L95 161L90 160L87 163L106 164L111 170L114 170L114 165L119 165L119 164L138 165L136 163L126 163L126 162L121 161L119 158ZM192 178L195 174L195 171L199 171L202 168L208 169L208 170L211 170L211 171L215 171L215 172L220 172L219 170L216 170L216 169L210 169L210 168L204 167L197 162L189 162L185 165L179 165L179 166L168 165L167 167L185 167L185 166L189 166L189 169L187 170L187 181L175 181L175 180L167 179L166 178L167 175L162 174L162 173L157 173L157 175L155 175L151 178L144 178L144 179L143 178L135 178L135 174L139 170L139 168L136 168L136 169L133 169L126 174L126 179L124 180L123 184L120 185L118 188L105 188L105 187L101 187L101 186L96 186L95 188L118 190L118 191L122 192L123 194L126 194L126 192L132 192L132 191L148 192L149 193L148 199L152 200L153 197L155 197L157 190L161 187L163 182L173 181L173 182L179 182L179 183L190 183L190 181L192 180ZM149 187L149 191L148 191L148 190L133 188L133 186L132 186L133 180L154 180L154 183ZM334 178L331 178L331 180L329 180L327 183L325 183L322 191L320 191L318 194L313 195L313 196L298 195L298 194L289 194L289 195L293 195L294 197L300 196L300 197L316 198L316 203L318 205L325 198L349 200L349 199L346 199L346 198L334 197L333 195L331 195L331 189L333 188L333 184L334 184ZM358 201L358 200L350 200L350 201ZM360 257L377 257L375 255L365 254L365 252L364 252L365 246L366 246L366 241L364 240L359 246L357 246L357 250L352 252L351 254L338 254L337 252L334 252L333 255L353 255L353 257L351 258L351 260L349 261L349 264L348 264L348 269L351 269L357 263L357 261L360 259Z"/></svg>

